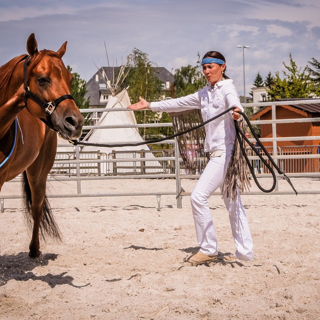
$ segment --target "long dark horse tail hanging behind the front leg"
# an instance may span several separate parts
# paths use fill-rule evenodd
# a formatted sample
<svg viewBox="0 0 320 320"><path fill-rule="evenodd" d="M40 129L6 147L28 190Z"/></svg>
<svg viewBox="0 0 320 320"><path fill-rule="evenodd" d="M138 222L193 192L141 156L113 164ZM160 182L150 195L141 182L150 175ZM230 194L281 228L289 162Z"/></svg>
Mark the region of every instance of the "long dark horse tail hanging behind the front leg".
<svg viewBox="0 0 320 320"><path fill-rule="evenodd" d="M25 221L30 230L33 227L33 218L31 213L31 188L29 185L26 171L21 174L21 191L22 203L24 207ZM44 197L43 202L43 217L40 223L40 237L45 241L47 237L52 238L58 242L62 241L60 229L53 217L52 210L47 196Z"/></svg>

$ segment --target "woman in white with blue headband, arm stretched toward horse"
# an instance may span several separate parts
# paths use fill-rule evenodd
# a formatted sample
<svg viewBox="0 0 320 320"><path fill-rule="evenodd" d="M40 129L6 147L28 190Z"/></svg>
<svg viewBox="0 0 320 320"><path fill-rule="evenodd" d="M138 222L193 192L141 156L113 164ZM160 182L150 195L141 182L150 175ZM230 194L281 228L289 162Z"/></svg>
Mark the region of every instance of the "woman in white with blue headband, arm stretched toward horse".
<svg viewBox="0 0 320 320"><path fill-rule="evenodd" d="M235 140L233 120L242 120L237 111L244 111L232 80L226 76L225 57L217 51L207 52L202 59L203 73L208 80L204 89L188 96L147 102L140 97L140 102L128 108L132 110L150 109L152 111L180 112L187 109L201 109L206 121L224 110L236 107L214 121L205 125L206 138L204 151L210 151L210 161L205 167L191 196L191 207L196 227L196 236L200 250L186 259L192 264L201 264L217 259L218 245L214 231L208 198L218 187L222 188ZM223 196L229 212L232 235L236 243L236 252L224 256L224 260L253 260L253 243L248 220L241 203L239 190L236 200Z"/></svg>

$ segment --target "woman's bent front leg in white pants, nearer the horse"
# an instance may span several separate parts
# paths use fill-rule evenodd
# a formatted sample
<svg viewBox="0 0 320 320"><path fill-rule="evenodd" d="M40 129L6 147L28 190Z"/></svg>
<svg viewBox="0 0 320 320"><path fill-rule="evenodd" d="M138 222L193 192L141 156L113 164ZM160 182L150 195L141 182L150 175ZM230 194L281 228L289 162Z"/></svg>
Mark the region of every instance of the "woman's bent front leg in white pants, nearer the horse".
<svg viewBox="0 0 320 320"><path fill-rule="evenodd" d="M208 198L223 184L225 161L225 153L211 158L190 196L200 251L209 256L217 255L218 247Z"/></svg>

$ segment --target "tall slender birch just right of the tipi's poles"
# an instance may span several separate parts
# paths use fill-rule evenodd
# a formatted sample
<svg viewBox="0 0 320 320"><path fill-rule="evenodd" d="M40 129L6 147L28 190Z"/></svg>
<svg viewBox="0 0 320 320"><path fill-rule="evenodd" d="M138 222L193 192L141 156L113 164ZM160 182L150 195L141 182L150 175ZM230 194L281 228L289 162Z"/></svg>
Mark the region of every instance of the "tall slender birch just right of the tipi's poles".
<svg viewBox="0 0 320 320"><path fill-rule="evenodd" d="M130 71L124 81L123 87L129 86L128 94L132 103L139 102L139 97L147 101L158 100L161 92L161 81L156 77L153 68L154 63L148 58L148 54L137 48L132 50L127 57L126 71ZM134 112L137 123L154 123L159 121L159 114L144 110ZM140 135L144 139L159 134L158 128L139 128Z"/></svg>

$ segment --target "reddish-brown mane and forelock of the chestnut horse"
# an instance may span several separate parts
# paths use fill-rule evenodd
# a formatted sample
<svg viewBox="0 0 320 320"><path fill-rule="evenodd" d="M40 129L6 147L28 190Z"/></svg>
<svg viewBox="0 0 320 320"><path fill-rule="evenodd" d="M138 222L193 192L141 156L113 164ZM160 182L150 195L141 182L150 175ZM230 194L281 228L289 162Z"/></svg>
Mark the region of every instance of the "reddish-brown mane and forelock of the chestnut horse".
<svg viewBox="0 0 320 320"><path fill-rule="evenodd" d="M38 64L39 61L46 55L61 59L58 56L58 54L52 50L43 49L39 51L38 53L30 57L30 60L28 62L29 67L28 67L27 78L29 78L32 68L34 68L36 64ZM11 59L10 61L8 61L7 63L5 63L3 66L0 67L0 97L6 97L14 69L17 67L17 65L21 61L25 60L27 57L28 57L28 54L22 54L18 57Z"/></svg>

